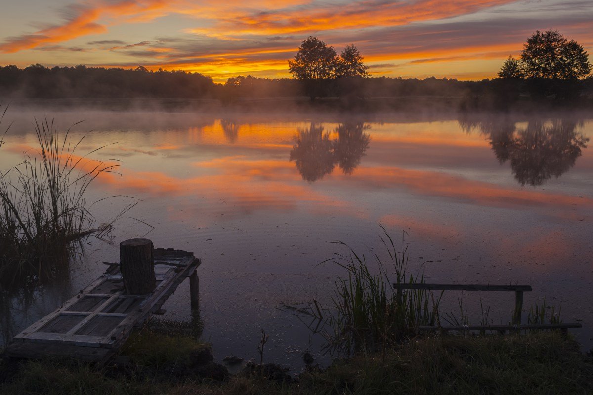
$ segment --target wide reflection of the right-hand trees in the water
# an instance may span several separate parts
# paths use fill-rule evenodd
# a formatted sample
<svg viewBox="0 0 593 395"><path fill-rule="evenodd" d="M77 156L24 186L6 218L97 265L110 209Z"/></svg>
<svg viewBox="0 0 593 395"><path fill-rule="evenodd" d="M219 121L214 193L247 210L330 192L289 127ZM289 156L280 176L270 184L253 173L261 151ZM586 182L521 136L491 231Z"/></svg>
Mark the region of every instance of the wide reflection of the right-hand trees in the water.
<svg viewBox="0 0 593 395"><path fill-rule="evenodd" d="M521 185L542 185L569 171L589 141L578 133L582 121L568 118L530 120L524 129L508 117L489 121L460 121L466 131L477 129L488 136L499 163L509 161Z"/></svg>

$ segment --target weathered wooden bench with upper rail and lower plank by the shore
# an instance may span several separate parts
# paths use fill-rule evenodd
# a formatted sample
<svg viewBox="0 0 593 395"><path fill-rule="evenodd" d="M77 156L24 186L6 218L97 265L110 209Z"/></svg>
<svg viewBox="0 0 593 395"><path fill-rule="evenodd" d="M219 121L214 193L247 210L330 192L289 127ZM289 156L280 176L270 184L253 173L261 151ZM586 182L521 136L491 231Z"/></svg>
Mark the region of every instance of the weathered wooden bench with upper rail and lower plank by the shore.
<svg viewBox="0 0 593 395"><path fill-rule="evenodd" d="M569 328L580 328L581 323L559 323L545 325L521 325L521 311L523 310L523 293L531 292L531 285L495 285L495 284L410 284L394 282L393 288L397 290L398 295L403 290L436 290L436 291L498 291L515 293L515 311L513 314L512 325L482 325L482 326L420 326L419 330L444 330L444 331L471 331L496 330L504 333L506 330L537 330L537 329L560 329L566 333Z"/></svg>

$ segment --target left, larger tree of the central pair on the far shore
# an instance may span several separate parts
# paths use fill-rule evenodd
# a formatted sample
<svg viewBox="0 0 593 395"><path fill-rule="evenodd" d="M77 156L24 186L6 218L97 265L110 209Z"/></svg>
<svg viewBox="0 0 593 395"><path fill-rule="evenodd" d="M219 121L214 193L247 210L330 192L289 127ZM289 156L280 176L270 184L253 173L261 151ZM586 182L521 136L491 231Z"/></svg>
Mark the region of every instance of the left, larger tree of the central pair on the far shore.
<svg viewBox="0 0 593 395"><path fill-rule="evenodd" d="M335 75L336 51L317 37L302 41L294 60L288 61L292 76L305 85L307 95L313 100L324 95L327 80Z"/></svg>

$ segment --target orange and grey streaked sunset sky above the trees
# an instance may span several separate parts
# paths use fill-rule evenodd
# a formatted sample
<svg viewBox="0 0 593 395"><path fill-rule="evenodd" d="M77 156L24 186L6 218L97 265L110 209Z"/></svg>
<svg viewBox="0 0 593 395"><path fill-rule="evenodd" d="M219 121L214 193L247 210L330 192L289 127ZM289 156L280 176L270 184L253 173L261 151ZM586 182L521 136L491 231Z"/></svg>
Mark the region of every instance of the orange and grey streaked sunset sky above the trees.
<svg viewBox="0 0 593 395"><path fill-rule="evenodd" d="M18 0L2 5L0 65L183 69L287 77L302 40L355 44L372 75L493 77L535 30L593 53L592 0Z"/></svg>

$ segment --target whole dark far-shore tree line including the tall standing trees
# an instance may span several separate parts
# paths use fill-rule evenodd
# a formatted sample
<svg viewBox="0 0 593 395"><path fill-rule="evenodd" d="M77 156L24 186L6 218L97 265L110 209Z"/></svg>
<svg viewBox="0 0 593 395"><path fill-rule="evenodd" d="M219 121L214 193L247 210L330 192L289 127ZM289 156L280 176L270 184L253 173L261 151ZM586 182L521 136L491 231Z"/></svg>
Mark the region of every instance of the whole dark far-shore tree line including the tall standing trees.
<svg viewBox="0 0 593 395"><path fill-rule="evenodd" d="M74 67L20 69L0 67L0 97L25 98L206 98L224 104L250 98L339 97L350 102L383 97L464 98L510 105L519 97L574 99L593 95L588 54L557 30L537 31L527 39L521 57L509 56L498 78L458 81L449 78L391 78L369 75L361 52L353 45L339 55L317 37L302 41L288 61L293 78L235 76L215 84L200 73L182 70Z"/></svg>

